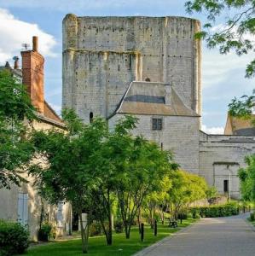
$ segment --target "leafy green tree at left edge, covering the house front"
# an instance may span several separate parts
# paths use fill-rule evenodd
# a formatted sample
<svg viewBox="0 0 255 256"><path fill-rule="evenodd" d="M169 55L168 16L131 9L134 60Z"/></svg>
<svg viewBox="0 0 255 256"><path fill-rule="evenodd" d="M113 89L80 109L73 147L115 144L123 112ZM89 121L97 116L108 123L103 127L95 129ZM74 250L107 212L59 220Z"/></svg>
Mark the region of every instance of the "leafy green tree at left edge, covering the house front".
<svg viewBox="0 0 255 256"><path fill-rule="evenodd" d="M26 182L22 173L32 158L26 121L36 119L26 87L8 71L0 72L0 188Z"/></svg>

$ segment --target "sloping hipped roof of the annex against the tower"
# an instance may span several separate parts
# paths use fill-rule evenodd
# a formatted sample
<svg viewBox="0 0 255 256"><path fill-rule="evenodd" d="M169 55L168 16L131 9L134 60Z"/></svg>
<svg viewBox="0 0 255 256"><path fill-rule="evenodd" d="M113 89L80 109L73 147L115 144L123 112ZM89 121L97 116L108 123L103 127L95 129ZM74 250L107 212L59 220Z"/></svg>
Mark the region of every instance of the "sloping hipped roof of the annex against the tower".
<svg viewBox="0 0 255 256"><path fill-rule="evenodd" d="M115 113L199 116L170 84L136 81L130 84Z"/></svg>

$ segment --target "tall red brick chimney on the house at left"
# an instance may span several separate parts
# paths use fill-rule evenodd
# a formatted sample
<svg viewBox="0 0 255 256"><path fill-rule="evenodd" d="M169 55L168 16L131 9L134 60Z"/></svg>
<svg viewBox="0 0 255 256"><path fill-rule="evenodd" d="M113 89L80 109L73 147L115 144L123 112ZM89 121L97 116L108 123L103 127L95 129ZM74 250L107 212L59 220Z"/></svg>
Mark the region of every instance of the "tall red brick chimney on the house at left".
<svg viewBox="0 0 255 256"><path fill-rule="evenodd" d="M44 112L43 64L44 58L38 53L38 37L32 37L32 50L21 51L22 83L26 84L32 105L39 113Z"/></svg>

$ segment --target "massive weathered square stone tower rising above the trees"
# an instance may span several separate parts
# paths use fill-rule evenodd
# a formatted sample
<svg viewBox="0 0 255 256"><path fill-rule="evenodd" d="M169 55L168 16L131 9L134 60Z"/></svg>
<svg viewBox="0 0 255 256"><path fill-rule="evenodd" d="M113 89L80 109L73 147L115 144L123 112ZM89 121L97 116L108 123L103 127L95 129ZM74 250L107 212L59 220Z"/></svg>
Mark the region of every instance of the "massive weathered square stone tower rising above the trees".
<svg viewBox="0 0 255 256"><path fill-rule="evenodd" d="M183 17L77 17L63 20L63 108L88 122L109 117L132 81L172 84L201 112L198 20Z"/></svg>

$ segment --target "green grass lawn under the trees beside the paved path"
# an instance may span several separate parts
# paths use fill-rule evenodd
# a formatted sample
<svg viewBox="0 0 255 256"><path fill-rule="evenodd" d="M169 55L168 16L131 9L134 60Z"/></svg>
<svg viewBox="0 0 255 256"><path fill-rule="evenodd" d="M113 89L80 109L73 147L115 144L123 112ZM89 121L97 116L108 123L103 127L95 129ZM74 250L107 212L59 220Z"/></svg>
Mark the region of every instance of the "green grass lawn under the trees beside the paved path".
<svg viewBox="0 0 255 256"><path fill-rule="evenodd" d="M195 219L183 220L183 224L178 224L179 227L186 227L194 223ZM87 255L131 255L140 251L143 247L148 247L156 241L161 240L171 233L177 232L180 228L171 229L167 225L158 225L158 236L154 236L153 230L148 225L144 229L144 241L140 241L138 228L131 230L130 239L125 239L125 233L113 235L113 246L106 245L105 236L94 236L89 239L89 253ZM26 253L30 256L71 256L84 255L81 253L81 240L71 241L55 241L47 245L32 247Z"/></svg>

